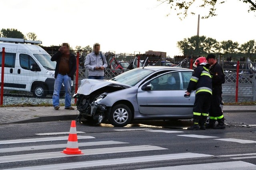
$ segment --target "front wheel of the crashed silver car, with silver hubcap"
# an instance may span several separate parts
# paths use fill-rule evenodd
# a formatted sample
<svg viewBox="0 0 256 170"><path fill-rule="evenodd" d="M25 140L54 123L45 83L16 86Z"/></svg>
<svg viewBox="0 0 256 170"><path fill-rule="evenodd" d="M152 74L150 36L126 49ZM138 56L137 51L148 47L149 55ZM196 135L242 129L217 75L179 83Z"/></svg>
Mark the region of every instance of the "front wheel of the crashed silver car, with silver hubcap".
<svg viewBox="0 0 256 170"><path fill-rule="evenodd" d="M113 126L124 127L130 123L132 112L130 108L123 104L118 104L112 107L109 121Z"/></svg>

